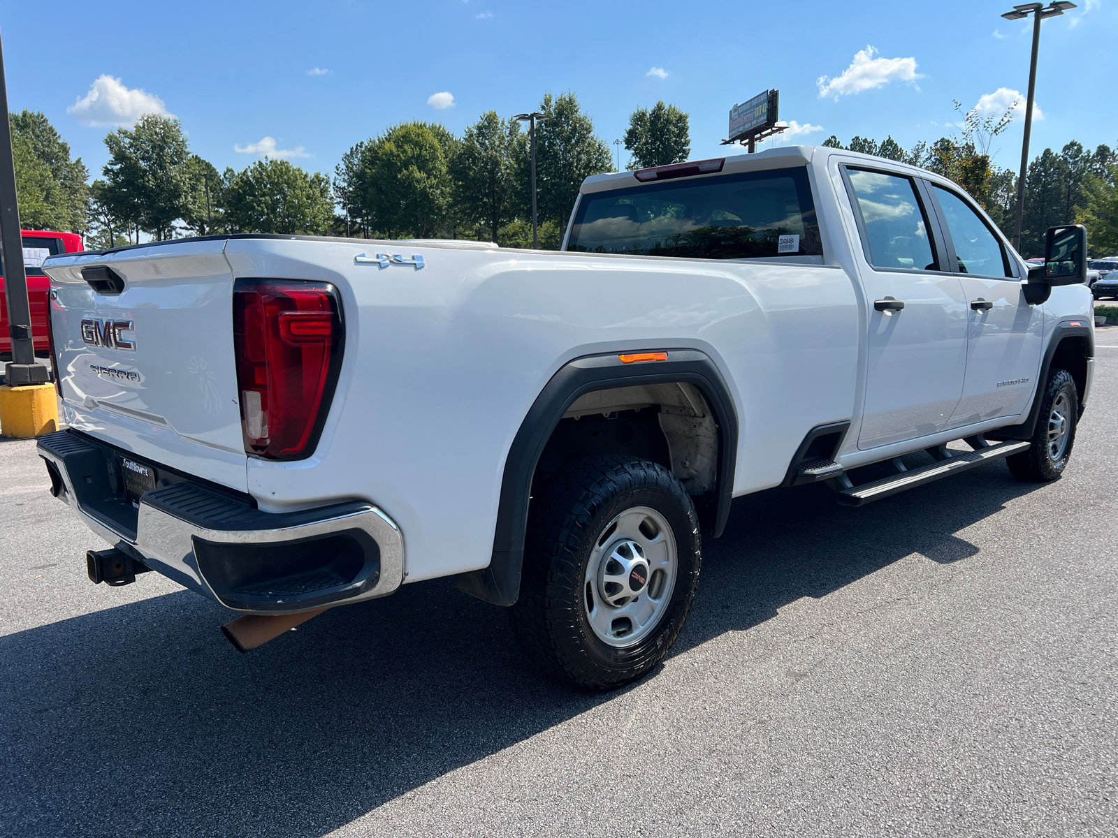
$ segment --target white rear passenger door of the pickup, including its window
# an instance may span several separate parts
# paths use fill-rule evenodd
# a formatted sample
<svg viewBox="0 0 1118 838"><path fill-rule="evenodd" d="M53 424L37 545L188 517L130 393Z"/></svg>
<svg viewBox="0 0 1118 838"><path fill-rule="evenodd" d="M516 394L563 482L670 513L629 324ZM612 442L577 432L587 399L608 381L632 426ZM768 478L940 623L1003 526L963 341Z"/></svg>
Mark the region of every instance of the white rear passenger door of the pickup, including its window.
<svg viewBox="0 0 1118 838"><path fill-rule="evenodd" d="M967 306L958 276L942 269L930 213L900 173L846 168L858 216L868 297L865 450L944 430L963 391Z"/></svg>

